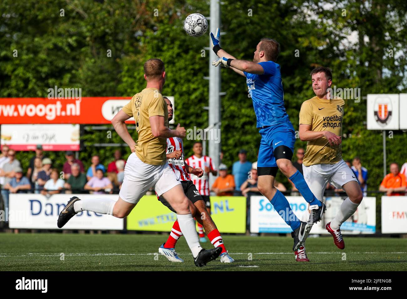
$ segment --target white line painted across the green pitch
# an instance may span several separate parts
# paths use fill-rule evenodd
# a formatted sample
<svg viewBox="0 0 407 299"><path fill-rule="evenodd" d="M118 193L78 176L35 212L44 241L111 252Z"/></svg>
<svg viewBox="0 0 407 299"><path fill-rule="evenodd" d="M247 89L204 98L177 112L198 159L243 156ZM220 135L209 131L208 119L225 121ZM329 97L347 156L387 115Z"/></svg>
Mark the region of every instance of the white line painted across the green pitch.
<svg viewBox="0 0 407 299"><path fill-rule="evenodd" d="M250 252L243 253L230 253L230 255L248 255ZM342 252L307 252L308 254L342 254ZM407 254L405 251L399 252L347 252L348 254ZM109 256L109 255L155 255L159 253L64 253L65 256ZM192 253L178 253L184 255L192 255ZM293 254L292 252L258 252L250 253L252 255L256 254ZM10 253L0 253L0 257L11 257L11 256L60 256L61 253L26 253L26 254L10 254Z"/></svg>

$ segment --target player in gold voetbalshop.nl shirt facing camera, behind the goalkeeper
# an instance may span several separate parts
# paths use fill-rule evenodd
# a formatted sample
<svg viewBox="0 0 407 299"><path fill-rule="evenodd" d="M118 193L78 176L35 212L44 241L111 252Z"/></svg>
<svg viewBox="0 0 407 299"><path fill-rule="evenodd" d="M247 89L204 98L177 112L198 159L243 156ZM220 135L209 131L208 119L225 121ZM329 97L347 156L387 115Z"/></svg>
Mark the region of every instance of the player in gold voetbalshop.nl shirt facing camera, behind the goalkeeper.
<svg viewBox="0 0 407 299"><path fill-rule="evenodd" d="M356 212L363 197L356 176L342 159L345 101L330 94L332 73L329 68L315 68L311 80L316 96L302 103L300 110L300 139L307 141L302 164L304 179L320 201L328 182L342 188L348 195L335 218L326 224L335 245L344 249L340 226Z"/></svg>

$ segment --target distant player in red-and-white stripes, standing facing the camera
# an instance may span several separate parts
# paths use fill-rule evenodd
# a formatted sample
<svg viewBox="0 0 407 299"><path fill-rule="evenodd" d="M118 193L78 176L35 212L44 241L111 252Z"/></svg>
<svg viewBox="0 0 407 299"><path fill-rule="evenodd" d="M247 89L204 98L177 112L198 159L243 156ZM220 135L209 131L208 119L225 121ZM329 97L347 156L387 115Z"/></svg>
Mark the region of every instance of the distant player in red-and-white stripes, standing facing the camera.
<svg viewBox="0 0 407 299"><path fill-rule="evenodd" d="M195 142L192 148L194 154L185 160L188 165L194 168L204 169L204 175L202 177L197 177L196 175L191 175L191 179L194 182L195 187L202 195L202 198L206 202L206 208L210 213L210 198L209 198L209 173L212 175L217 175L218 172L215 170L212 164L212 158L202 155L202 142ZM206 242L204 227L198 223L199 241Z"/></svg>

